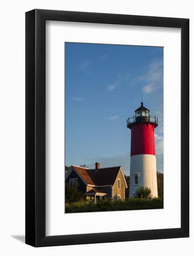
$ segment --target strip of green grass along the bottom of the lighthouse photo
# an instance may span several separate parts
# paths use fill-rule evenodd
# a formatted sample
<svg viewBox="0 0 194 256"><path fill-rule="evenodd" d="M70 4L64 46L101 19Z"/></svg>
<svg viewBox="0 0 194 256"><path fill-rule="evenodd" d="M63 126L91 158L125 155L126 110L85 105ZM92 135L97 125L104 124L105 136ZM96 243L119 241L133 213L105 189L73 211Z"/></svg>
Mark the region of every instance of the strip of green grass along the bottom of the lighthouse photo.
<svg viewBox="0 0 194 256"><path fill-rule="evenodd" d="M73 202L65 204L66 213L142 209L163 209L163 200L160 198L150 200L132 198L128 201Z"/></svg>

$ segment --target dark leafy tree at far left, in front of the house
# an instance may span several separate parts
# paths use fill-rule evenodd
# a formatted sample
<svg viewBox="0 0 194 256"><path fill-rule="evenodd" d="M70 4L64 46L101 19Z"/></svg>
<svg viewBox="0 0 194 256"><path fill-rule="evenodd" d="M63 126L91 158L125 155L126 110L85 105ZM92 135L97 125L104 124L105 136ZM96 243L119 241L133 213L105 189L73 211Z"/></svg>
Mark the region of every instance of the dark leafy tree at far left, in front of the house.
<svg viewBox="0 0 194 256"><path fill-rule="evenodd" d="M85 201L86 196L82 191L78 190L78 183L74 183L73 186L69 187L68 183L65 184L65 202L72 203L78 201Z"/></svg>

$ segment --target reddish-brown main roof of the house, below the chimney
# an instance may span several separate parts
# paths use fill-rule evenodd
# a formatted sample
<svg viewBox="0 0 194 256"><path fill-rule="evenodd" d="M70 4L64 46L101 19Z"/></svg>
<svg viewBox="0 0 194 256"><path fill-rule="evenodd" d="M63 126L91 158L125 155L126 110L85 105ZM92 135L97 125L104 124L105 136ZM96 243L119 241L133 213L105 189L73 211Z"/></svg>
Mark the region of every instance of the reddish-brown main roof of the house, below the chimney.
<svg viewBox="0 0 194 256"><path fill-rule="evenodd" d="M72 165L87 185L106 186L113 185L121 166L99 169L88 169Z"/></svg>

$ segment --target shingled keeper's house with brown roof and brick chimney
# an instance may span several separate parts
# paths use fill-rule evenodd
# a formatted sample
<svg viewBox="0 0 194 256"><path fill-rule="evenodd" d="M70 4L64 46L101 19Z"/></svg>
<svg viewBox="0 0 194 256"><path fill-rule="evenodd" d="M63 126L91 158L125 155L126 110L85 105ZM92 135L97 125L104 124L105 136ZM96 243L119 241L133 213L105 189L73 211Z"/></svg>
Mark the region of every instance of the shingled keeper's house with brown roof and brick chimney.
<svg viewBox="0 0 194 256"><path fill-rule="evenodd" d="M78 189L90 201L125 199L127 182L121 166L100 168L100 163L96 162L95 169L89 169L72 165L65 176L67 184L70 187L78 184Z"/></svg>

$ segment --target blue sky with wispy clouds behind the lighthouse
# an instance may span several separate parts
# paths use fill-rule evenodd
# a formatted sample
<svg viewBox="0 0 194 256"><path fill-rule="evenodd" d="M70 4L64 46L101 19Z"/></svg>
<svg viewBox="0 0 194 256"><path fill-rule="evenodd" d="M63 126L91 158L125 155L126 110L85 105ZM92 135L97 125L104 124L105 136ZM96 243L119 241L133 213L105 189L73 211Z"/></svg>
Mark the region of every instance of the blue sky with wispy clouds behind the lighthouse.
<svg viewBox="0 0 194 256"><path fill-rule="evenodd" d="M141 98L158 117L157 171L163 172L163 47L65 43L66 165L121 165L129 175L127 117Z"/></svg>

